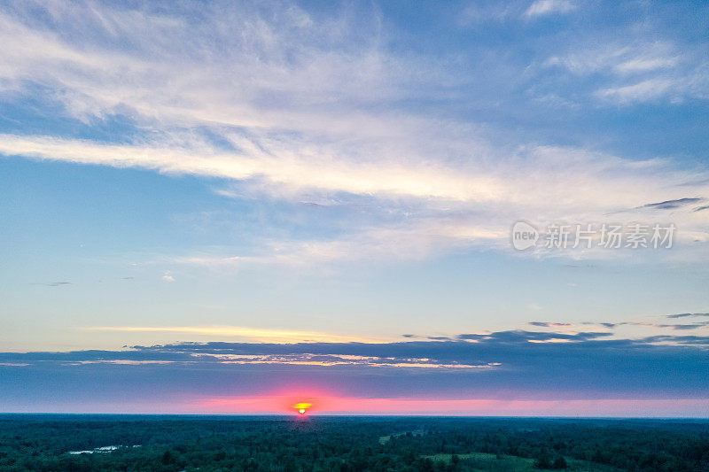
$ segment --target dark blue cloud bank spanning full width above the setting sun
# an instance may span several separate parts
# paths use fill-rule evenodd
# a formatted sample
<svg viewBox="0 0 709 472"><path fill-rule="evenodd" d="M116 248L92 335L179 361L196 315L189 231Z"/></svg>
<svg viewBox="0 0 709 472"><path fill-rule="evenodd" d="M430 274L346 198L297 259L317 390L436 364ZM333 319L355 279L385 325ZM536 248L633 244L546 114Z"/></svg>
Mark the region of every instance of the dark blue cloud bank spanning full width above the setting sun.
<svg viewBox="0 0 709 472"><path fill-rule="evenodd" d="M386 398L709 398L709 337L609 337L511 330L382 344L211 342L4 352L0 404L18 398L23 405L177 401L271 394L292 385Z"/></svg>

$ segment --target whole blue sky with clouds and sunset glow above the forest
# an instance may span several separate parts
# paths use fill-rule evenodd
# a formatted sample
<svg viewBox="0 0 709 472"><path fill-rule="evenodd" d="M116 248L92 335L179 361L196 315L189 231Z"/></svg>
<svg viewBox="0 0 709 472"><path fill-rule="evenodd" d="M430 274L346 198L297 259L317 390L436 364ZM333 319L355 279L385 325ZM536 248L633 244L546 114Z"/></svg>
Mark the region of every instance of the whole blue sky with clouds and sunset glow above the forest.
<svg viewBox="0 0 709 472"><path fill-rule="evenodd" d="M3 3L0 411L709 417L707 18Z"/></svg>

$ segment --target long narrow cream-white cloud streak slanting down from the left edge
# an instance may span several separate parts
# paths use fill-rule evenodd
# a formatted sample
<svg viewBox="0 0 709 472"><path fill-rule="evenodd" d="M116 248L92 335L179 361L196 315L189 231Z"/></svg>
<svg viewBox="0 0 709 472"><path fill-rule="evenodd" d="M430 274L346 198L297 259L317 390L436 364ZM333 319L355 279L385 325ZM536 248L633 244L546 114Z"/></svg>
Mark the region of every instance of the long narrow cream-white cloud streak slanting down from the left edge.
<svg viewBox="0 0 709 472"><path fill-rule="evenodd" d="M106 166L138 166L164 173L196 174L246 180L260 177L278 186L281 192L291 189L340 191L366 195L370 193L409 197L440 197L463 201L486 201L500 194L500 182L492 176L460 175L454 169L425 165L413 168L386 163L375 166L341 159L337 156L301 159L293 151L263 149L266 143L250 143L250 155L220 152L207 143L191 147L110 145L51 137L0 135L0 152L42 159L101 164ZM242 143L243 144L243 143ZM298 143L293 143L298 145Z"/></svg>

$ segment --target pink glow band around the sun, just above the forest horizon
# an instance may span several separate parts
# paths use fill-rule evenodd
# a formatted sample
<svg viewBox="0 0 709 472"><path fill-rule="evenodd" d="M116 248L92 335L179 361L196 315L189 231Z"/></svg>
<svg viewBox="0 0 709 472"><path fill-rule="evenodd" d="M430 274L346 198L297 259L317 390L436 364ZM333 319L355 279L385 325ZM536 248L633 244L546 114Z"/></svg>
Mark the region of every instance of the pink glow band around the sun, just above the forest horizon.
<svg viewBox="0 0 709 472"><path fill-rule="evenodd" d="M308 414L709 416L709 398L499 400L270 395L202 398L190 409L205 414L295 414L292 405L301 401L312 404Z"/></svg>

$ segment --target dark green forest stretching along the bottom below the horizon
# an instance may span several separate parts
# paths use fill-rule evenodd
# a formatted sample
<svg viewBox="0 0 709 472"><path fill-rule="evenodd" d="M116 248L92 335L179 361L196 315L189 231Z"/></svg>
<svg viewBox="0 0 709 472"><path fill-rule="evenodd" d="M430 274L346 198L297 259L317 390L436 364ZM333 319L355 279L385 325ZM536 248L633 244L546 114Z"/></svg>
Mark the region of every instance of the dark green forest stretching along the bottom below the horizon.
<svg viewBox="0 0 709 472"><path fill-rule="evenodd" d="M709 422L0 415L0 471L709 471Z"/></svg>

